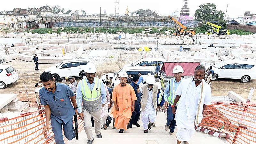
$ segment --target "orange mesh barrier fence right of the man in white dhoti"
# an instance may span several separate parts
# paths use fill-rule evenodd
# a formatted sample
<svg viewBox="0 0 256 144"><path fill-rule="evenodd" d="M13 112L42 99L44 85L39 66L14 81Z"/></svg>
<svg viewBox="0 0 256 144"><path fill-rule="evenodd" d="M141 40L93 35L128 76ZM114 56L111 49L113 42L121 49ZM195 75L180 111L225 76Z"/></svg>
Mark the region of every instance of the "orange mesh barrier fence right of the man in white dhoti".
<svg viewBox="0 0 256 144"><path fill-rule="evenodd" d="M231 144L256 143L256 104L212 102L199 126L226 133Z"/></svg>

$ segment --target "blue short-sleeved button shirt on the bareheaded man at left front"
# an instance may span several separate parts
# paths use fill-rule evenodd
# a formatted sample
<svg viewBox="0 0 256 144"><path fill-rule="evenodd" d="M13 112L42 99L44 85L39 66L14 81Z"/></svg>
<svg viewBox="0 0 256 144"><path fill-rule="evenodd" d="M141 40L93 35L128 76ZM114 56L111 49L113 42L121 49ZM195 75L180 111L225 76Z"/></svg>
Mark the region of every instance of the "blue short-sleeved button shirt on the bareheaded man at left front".
<svg viewBox="0 0 256 144"><path fill-rule="evenodd" d="M55 83L55 92L49 92L46 88L39 90L40 102L42 105L49 105L51 108L50 118L55 118L59 123L66 124L75 115L74 107L71 104L70 97L75 96L68 85ZM54 100L55 97L55 100Z"/></svg>

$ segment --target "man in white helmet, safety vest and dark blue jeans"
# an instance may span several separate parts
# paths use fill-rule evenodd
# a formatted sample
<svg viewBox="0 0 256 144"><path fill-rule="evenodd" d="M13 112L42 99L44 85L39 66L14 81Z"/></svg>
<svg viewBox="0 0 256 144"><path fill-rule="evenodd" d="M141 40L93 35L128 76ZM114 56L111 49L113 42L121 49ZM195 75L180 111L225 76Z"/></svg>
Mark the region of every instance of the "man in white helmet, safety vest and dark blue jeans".
<svg viewBox="0 0 256 144"><path fill-rule="evenodd" d="M174 120L175 115L172 114L172 105L176 97L174 92L180 85L181 81L184 79L181 77L183 73L183 68L181 66L175 66L172 70L172 73L174 77L167 82L164 90L164 107L167 109L167 122L164 129L165 131L168 131L168 129L170 129L170 135L172 135L176 126L176 121ZM175 109L177 109L178 103L179 102L177 102Z"/></svg>

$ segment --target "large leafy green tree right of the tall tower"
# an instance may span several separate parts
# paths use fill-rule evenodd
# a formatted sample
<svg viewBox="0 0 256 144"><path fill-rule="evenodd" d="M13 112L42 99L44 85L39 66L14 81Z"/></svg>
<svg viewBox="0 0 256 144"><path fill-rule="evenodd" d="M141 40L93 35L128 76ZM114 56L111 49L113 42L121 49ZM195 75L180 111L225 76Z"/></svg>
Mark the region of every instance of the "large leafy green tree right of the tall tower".
<svg viewBox="0 0 256 144"><path fill-rule="evenodd" d="M225 12L217 11L215 4L201 4L195 12L196 20L219 21L223 20Z"/></svg>

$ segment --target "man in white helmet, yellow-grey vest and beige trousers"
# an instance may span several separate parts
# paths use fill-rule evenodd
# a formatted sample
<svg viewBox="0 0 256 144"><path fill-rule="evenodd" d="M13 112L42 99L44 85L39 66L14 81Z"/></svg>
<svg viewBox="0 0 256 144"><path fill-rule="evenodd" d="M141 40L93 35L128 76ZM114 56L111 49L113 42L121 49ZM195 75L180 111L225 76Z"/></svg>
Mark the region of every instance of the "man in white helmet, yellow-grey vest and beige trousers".
<svg viewBox="0 0 256 144"><path fill-rule="evenodd" d="M99 78L95 77L96 66L89 62L86 64L84 72L86 78L79 81L76 91L76 102L78 103L78 115L84 120L84 130L88 138L87 144L92 144L92 122L93 117L95 125L95 133L97 138L102 138L100 133L101 128L101 108L104 107L106 101L106 89ZM81 105L81 103L83 104Z"/></svg>

